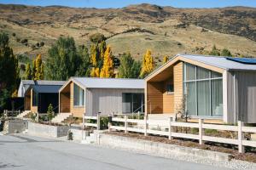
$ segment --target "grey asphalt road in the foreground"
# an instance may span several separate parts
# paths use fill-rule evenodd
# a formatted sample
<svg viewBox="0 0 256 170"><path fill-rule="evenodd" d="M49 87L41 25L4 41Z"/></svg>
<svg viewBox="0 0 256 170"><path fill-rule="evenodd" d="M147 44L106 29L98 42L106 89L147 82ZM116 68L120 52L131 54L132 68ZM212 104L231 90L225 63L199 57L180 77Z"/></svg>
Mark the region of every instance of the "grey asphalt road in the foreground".
<svg viewBox="0 0 256 170"><path fill-rule="evenodd" d="M54 139L0 135L0 169L14 170L224 170L186 161Z"/></svg>

